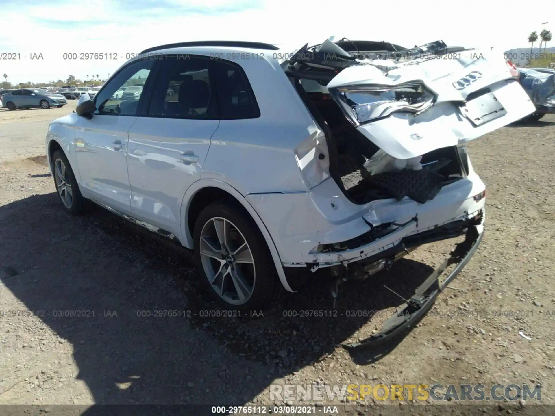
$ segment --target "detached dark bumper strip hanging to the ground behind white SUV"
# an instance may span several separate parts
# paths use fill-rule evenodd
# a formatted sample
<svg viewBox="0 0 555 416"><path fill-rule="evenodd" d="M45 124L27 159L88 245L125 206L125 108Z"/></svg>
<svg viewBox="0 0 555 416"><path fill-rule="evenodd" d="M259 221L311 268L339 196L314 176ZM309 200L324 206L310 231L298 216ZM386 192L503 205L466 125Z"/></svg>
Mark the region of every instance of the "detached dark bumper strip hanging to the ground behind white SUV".
<svg viewBox="0 0 555 416"><path fill-rule="evenodd" d="M451 281L457 277L458 273L466 266L466 263L474 255L478 246L482 242L484 232L485 211L477 217L476 223L468 227L465 241L458 243L455 250L451 251L450 256L442 263L442 265L434 270L430 276L418 286L415 293L403 303L392 317L384 323L382 331L371 335L369 338L360 342L345 344L347 349L358 347L376 347L380 344L395 338L404 333L407 329L413 327L420 318L432 307L437 296L442 292ZM439 277L447 267L456 264L457 266L440 283Z"/></svg>

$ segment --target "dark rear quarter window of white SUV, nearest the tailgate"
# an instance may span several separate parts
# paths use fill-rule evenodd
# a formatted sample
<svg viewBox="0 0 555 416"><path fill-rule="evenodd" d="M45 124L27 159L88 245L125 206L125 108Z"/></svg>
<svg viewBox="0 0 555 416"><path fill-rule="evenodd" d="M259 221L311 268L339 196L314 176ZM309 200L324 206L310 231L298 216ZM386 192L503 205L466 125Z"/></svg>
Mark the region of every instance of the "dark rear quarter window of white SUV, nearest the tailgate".
<svg viewBox="0 0 555 416"><path fill-rule="evenodd" d="M237 120L260 117L254 93L243 69L223 60L213 60L220 119Z"/></svg>

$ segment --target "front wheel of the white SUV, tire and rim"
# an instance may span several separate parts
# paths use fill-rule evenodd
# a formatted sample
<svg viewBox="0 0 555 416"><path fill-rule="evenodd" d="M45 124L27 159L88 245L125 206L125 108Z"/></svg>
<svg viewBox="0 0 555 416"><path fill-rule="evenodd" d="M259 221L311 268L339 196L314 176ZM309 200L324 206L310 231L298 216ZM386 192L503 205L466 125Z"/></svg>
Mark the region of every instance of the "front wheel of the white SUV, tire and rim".
<svg viewBox="0 0 555 416"><path fill-rule="evenodd" d="M85 199L81 195L73 169L62 150L52 155L54 166L54 184L65 211L71 215L79 215L84 211Z"/></svg>

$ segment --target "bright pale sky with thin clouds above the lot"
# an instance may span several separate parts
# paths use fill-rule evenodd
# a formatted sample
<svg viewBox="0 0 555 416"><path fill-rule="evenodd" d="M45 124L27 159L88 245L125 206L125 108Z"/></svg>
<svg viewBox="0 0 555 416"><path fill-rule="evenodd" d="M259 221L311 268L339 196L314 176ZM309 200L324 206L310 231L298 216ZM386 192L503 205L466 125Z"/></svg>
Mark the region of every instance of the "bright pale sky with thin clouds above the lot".
<svg viewBox="0 0 555 416"><path fill-rule="evenodd" d="M0 60L8 81L48 82L69 74L107 78L125 59L64 60L63 54L138 53L158 44L186 40L256 40L288 48L336 38L388 40L413 46L442 39L450 45L502 53L529 47L528 33L541 23L555 32L555 2L541 13L522 2L466 0L464 7L438 0L2 0ZM538 12L538 13L537 13ZM548 44L550 46L551 44ZM555 45L555 41L553 41ZM537 46L534 45L534 46ZM42 60L30 60L42 53ZM3 78L0 78L3 80Z"/></svg>

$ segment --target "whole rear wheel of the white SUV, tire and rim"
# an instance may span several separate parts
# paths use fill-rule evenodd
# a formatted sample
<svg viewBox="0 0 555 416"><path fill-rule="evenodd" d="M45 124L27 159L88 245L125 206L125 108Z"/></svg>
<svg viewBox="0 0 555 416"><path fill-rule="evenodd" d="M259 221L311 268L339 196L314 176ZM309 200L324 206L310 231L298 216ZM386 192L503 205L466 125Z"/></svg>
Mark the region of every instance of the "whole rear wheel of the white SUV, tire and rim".
<svg viewBox="0 0 555 416"><path fill-rule="evenodd" d="M282 291L258 226L234 202L218 201L200 212L194 227L201 284L223 307L267 310Z"/></svg>

